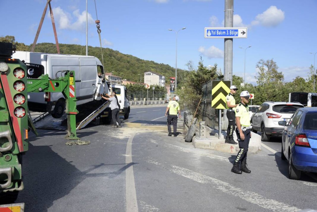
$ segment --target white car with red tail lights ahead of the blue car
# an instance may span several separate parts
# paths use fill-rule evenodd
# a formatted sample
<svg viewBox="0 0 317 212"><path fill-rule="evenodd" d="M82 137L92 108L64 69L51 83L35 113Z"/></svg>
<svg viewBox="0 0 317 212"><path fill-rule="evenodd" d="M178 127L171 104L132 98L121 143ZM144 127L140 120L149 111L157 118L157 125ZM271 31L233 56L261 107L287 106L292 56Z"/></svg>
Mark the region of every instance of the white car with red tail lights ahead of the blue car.
<svg viewBox="0 0 317 212"><path fill-rule="evenodd" d="M251 117L252 131L260 131L262 141L269 141L271 135L281 136L284 127L278 122L288 123L295 111L303 107L301 103L294 102L264 102Z"/></svg>

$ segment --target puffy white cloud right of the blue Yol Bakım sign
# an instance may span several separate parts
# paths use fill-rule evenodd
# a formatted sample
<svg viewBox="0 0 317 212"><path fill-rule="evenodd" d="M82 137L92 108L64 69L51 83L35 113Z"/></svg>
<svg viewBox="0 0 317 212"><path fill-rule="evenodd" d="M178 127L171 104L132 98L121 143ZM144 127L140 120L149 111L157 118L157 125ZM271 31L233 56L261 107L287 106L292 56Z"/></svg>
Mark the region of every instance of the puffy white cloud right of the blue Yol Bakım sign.
<svg viewBox="0 0 317 212"><path fill-rule="evenodd" d="M274 27L280 24L284 20L284 12L281 9L277 9L276 6L270 6L263 13L258 14L251 25L261 24L266 27Z"/></svg>

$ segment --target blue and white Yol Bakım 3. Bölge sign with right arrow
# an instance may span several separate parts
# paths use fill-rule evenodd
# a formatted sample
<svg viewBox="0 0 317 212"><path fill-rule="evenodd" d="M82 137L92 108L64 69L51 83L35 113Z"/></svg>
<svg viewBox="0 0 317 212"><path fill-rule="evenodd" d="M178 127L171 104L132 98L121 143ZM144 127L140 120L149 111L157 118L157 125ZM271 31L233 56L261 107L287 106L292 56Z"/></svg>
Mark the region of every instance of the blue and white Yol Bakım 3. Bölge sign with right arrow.
<svg viewBox="0 0 317 212"><path fill-rule="evenodd" d="M205 27L205 38L247 38L246 27Z"/></svg>

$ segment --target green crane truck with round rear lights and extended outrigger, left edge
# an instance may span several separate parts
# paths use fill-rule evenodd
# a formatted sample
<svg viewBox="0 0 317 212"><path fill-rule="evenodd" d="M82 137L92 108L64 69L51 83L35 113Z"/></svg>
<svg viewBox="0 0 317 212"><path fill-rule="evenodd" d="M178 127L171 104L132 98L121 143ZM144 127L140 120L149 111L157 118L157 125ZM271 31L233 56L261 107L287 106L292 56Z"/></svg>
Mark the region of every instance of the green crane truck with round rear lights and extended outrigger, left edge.
<svg viewBox="0 0 317 212"><path fill-rule="evenodd" d="M24 203L12 204L23 190L22 156L28 150L29 130L36 133L27 107L27 92L61 92L66 98L68 130L65 138L76 135L75 73L50 79L42 75L27 79L26 65L11 58L15 47L0 42L0 211L23 211ZM8 205L9 204L9 205ZM13 210L14 209L14 210Z"/></svg>

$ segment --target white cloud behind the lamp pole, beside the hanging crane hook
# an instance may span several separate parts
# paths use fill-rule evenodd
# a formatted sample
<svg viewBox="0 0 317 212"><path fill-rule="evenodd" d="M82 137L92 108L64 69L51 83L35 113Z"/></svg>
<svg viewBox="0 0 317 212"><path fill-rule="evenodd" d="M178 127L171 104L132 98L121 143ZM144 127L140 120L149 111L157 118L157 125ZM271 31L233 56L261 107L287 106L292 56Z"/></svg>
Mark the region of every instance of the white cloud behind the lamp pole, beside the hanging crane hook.
<svg viewBox="0 0 317 212"><path fill-rule="evenodd" d="M84 31L86 29L86 11L80 13L79 10L75 10L71 15L60 7L56 7L53 8L53 14L59 29L78 31ZM75 21L72 22L72 20ZM94 19L90 13L88 13L88 24L94 24Z"/></svg>

